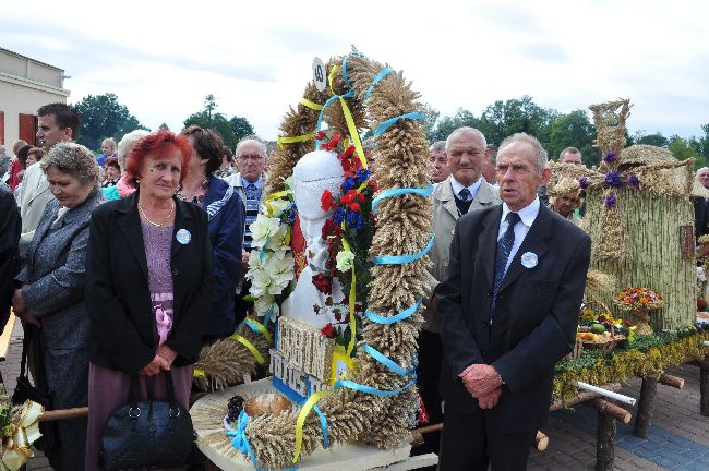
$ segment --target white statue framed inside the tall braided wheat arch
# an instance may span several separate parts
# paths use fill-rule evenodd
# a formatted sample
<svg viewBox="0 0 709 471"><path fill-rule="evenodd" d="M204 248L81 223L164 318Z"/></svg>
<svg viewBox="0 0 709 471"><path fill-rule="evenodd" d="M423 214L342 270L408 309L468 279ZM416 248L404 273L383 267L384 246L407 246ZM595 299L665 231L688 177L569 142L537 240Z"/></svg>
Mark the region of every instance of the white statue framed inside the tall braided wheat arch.
<svg viewBox="0 0 709 471"><path fill-rule="evenodd" d="M325 221L333 214L333 209L323 210L321 196L325 190L329 190L333 197L339 196L343 179L343 166L337 154L328 150L305 154L293 168L293 196L298 207L300 229L305 239L308 265L300 273L296 289L283 302L281 313L317 329L335 322L333 307L347 312L347 306L339 305L344 294L337 278L333 280L333 305L327 307L325 306L327 295L320 292L312 282L313 275L326 271L327 246L322 238L322 230ZM314 305L320 307L319 314L315 313Z"/></svg>

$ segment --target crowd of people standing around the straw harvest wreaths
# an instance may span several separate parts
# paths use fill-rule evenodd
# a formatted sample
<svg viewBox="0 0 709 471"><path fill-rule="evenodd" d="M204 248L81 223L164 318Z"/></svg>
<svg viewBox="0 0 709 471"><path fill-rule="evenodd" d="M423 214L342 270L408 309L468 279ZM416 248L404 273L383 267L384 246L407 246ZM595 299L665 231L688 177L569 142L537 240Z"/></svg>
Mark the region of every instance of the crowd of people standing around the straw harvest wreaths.
<svg viewBox="0 0 709 471"><path fill-rule="evenodd" d="M58 422L50 462L97 470L103 425L131 389L163 398L169 371L187 408L201 347L249 312L267 152L248 137L232 153L192 125L106 138L95 157L74 143L71 106L37 114L38 147L19 141L11 159L0 146L0 321L11 306L22 319L52 408L88 403L88 418ZM444 428L421 451L441 451L442 470L524 469L574 343L590 258L584 195L573 181L548 191L546 152L524 133L495 147L460 128L429 152L435 237L417 385ZM375 143L364 153L375 178ZM582 156L568 147L558 161ZM699 181L709 188L709 169ZM709 221L707 209L695 204Z"/></svg>

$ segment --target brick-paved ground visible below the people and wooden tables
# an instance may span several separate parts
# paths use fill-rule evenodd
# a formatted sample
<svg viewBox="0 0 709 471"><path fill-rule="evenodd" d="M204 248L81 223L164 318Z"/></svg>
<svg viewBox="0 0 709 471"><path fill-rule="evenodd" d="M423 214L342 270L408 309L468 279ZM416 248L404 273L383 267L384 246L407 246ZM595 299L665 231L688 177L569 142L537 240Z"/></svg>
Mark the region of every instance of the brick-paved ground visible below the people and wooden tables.
<svg viewBox="0 0 709 471"><path fill-rule="evenodd" d="M16 324L7 361L0 372L9 391L15 387L22 353L22 328ZM699 369L684 365L668 373L685 379L683 390L658 385L653 426L648 439L632 435L632 424L617 426L615 468L621 471L709 470L709 418L699 414ZM640 381L633 379L623 394L639 397ZM634 409L630 409L635 413ZM549 435L544 452L532 451L529 469L593 470L596 464L596 411L579 406L554 412L543 431ZM37 452L28 471L49 471L47 459Z"/></svg>

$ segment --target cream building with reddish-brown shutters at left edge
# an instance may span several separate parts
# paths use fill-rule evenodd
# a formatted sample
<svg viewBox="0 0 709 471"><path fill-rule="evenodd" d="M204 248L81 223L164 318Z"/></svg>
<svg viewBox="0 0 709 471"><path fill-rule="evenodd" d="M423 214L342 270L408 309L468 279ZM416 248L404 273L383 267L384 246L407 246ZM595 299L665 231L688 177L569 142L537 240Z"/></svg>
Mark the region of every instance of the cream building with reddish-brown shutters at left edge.
<svg viewBox="0 0 709 471"><path fill-rule="evenodd" d="M0 144L8 153L15 140L35 144L37 108L67 102L64 71L0 48Z"/></svg>

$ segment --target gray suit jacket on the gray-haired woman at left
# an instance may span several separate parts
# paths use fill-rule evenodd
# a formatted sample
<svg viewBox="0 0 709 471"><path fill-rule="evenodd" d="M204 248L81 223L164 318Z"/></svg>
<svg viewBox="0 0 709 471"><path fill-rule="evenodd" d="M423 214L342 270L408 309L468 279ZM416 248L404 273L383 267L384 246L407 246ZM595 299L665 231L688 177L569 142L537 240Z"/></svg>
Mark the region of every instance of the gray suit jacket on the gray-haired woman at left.
<svg viewBox="0 0 709 471"><path fill-rule="evenodd" d="M86 347L88 314L84 304L84 273L88 221L92 210L105 202L100 189L68 210L59 220L59 202L51 200L27 251L27 263L16 279L24 283L22 298L41 321L41 339L48 349Z"/></svg>

